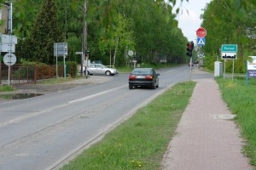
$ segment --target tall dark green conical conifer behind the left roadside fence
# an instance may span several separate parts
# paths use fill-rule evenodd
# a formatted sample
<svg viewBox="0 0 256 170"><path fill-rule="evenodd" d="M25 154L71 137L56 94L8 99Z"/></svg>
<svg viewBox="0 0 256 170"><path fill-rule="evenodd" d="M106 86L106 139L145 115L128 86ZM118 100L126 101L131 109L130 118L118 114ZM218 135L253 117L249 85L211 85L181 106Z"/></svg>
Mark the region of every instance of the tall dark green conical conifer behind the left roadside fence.
<svg viewBox="0 0 256 170"><path fill-rule="evenodd" d="M24 40L26 59L54 64L54 42L64 41L64 34L58 23L55 0L44 0L34 20L31 34Z"/></svg>

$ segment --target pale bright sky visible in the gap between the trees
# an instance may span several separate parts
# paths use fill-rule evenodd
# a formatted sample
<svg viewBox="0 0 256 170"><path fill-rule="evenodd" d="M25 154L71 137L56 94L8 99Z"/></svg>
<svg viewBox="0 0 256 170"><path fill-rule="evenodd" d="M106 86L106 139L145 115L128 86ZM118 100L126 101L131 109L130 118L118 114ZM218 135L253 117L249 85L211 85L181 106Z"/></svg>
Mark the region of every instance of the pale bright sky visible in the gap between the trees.
<svg viewBox="0 0 256 170"><path fill-rule="evenodd" d="M196 43L196 30L201 27L202 20L200 15L203 14L204 8L207 3L212 0L177 0L177 4L174 7L180 8L179 14L177 14L178 27L183 31L184 37L187 37L189 42L193 41Z"/></svg>

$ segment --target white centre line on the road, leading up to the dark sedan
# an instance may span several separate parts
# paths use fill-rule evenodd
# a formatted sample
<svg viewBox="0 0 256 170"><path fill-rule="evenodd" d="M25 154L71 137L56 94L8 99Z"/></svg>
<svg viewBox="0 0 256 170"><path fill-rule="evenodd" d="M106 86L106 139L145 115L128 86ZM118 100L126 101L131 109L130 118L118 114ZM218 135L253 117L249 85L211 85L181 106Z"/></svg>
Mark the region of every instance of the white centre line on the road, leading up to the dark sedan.
<svg viewBox="0 0 256 170"><path fill-rule="evenodd" d="M11 119L11 120L9 120L9 121L7 121L7 122L2 122L2 123L0 124L0 127L4 127L4 126L7 126L7 125L9 125L9 124L11 124L11 123L17 123L17 122L20 122L20 121L22 121L22 120L26 120L26 119L28 119L28 118L31 118L31 117L33 117L33 116L38 116L38 115L40 115L40 114L44 114L44 113L46 113L46 112L53 111L53 110L55 110L56 108L61 108L61 107L67 106L67 105L71 105L71 104L73 104L73 103L77 103L77 102L84 101L84 100L86 100L86 99L92 99L92 98L94 98L94 97L96 97L96 96L99 96L99 95L102 95L102 94L108 94L109 92L113 92L114 90L117 90L117 89L119 89L119 88L124 88L125 86L126 86L126 85L120 86L120 87L118 87L118 88L109 89L109 90L100 92L100 93L98 93L98 94L92 94L92 95L86 96L86 97L84 97L84 98L71 100L71 101L68 101L66 104L56 105L56 106L51 107L51 108L48 108L48 109L46 109L46 110L44 110L44 111L37 111L37 112L28 113L28 114L26 114L25 116L16 117L16 118Z"/></svg>

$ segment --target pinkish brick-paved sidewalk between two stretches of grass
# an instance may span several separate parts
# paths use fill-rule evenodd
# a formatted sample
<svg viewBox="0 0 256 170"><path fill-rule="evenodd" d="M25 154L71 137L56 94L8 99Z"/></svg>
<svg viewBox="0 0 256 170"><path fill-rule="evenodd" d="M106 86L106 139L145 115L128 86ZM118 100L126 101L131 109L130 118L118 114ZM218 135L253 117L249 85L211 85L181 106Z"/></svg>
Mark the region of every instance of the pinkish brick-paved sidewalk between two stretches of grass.
<svg viewBox="0 0 256 170"><path fill-rule="evenodd" d="M162 161L163 170L253 169L241 154L240 131L214 79L196 80L190 104Z"/></svg>

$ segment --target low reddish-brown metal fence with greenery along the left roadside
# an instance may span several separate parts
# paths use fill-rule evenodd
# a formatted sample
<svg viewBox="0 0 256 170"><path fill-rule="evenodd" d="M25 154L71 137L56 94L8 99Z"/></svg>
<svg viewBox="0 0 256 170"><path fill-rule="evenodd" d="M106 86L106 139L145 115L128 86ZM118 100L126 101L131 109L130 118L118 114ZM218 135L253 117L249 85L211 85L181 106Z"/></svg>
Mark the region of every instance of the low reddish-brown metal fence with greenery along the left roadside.
<svg viewBox="0 0 256 170"><path fill-rule="evenodd" d="M36 83L39 80L55 78L56 76L64 77L63 68L63 65L59 65L57 68L55 65L11 65L9 71L8 65L0 65L0 84L8 84L9 80L11 84ZM66 74L68 77L75 77L77 74L76 66L70 65L70 68L66 69Z"/></svg>

